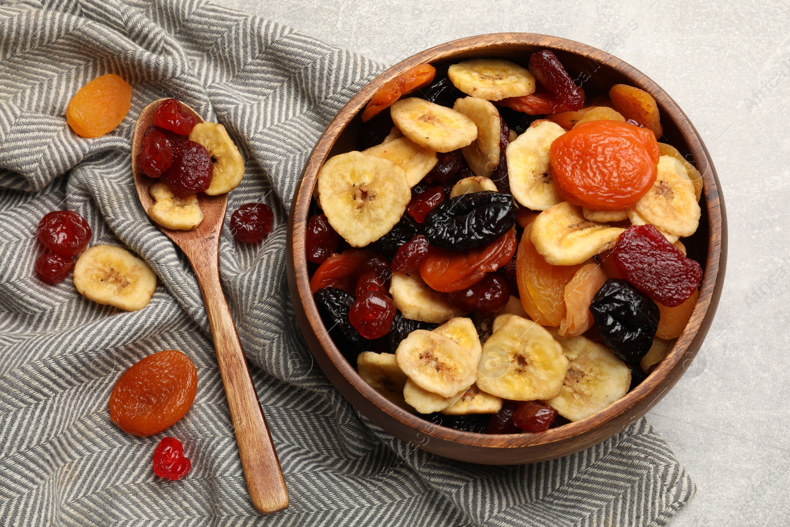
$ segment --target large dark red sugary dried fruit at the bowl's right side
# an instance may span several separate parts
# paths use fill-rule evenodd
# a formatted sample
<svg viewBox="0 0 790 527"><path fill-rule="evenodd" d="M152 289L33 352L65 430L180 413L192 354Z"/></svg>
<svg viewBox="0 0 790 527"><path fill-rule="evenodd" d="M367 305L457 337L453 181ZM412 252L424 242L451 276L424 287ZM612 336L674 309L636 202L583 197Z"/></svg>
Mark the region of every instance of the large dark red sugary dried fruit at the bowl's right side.
<svg viewBox="0 0 790 527"><path fill-rule="evenodd" d="M612 258L615 269L626 280L667 307L689 299L702 280L702 267L650 224L627 228Z"/></svg>

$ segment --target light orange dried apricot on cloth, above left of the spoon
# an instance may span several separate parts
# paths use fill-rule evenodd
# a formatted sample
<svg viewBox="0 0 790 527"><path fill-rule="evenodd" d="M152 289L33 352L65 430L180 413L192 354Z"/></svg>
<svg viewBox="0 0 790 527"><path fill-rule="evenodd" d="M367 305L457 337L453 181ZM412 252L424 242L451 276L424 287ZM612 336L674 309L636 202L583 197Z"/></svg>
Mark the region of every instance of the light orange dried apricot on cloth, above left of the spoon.
<svg viewBox="0 0 790 527"><path fill-rule="evenodd" d="M96 77L77 90L66 122L81 137L100 137L118 126L132 106L132 87L115 73Z"/></svg>

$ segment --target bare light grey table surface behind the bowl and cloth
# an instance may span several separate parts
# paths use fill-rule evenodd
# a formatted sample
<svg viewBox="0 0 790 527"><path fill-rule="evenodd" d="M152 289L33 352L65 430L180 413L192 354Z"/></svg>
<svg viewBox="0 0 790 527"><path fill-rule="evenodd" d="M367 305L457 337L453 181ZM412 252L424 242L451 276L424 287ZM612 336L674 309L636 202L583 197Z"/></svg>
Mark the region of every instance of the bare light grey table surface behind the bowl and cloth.
<svg viewBox="0 0 790 527"><path fill-rule="evenodd" d="M661 85L708 146L729 223L716 319L648 414L697 484L670 525L790 525L790 3L214 2L387 65L464 36L536 32L609 51Z"/></svg>

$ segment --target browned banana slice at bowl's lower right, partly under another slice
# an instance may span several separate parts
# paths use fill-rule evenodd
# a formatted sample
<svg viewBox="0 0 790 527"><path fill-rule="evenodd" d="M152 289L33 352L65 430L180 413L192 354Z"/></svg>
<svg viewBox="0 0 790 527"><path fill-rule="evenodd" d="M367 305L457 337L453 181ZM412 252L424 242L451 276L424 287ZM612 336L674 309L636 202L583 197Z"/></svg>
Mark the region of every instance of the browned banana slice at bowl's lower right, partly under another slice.
<svg viewBox="0 0 790 527"><path fill-rule="evenodd" d="M556 330L552 333L569 363L559 395L546 400L559 415L582 420L628 393L631 372L606 346L585 337L562 338Z"/></svg>

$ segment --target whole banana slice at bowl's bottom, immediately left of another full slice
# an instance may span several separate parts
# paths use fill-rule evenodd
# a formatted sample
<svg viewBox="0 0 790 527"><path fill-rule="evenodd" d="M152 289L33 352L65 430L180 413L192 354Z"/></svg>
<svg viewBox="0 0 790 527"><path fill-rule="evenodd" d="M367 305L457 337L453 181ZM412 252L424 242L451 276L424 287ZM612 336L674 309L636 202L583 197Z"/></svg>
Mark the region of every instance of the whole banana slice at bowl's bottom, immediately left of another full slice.
<svg viewBox="0 0 790 527"><path fill-rule="evenodd" d="M438 333L416 329L395 352L401 370L423 390L452 397L472 386L477 363L468 350Z"/></svg>

